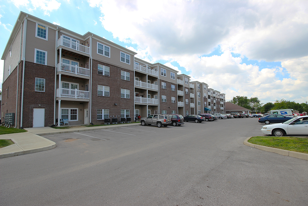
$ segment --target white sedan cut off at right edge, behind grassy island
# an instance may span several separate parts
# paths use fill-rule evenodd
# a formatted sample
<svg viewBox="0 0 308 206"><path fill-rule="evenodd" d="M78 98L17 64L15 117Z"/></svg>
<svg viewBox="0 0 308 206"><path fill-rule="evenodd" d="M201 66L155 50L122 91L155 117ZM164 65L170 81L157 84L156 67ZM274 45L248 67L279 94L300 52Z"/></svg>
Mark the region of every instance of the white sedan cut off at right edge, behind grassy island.
<svg viewBox="0 0 308 206"><path fill-rule="evenodd" d="M261 132L276 137L285 135L308 136L308 116L294 117L284 123L266 125Z"/></svg>

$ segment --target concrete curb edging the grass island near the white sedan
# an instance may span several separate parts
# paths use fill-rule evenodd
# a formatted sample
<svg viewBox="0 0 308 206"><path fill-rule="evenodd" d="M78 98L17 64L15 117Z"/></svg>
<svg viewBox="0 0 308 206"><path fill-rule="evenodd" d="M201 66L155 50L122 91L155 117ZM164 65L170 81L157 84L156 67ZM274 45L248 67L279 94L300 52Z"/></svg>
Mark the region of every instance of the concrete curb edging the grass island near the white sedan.
<svg viewBox="0 0 308 206"><path fill-rule="evenodd" d="M244 145L247 145L249 147L254 147L254 148L257 148L257 149L261 149L261 150L264 150L264 151L268 151L268 152L274 152L274 153L277 153L277 154L282 154L282 155L289 156L289 157L308 160L308 154L306 154L306 153L294 152L294 151L289 151L289 150L284 150L284 149L277 149L277 148L273 148L273 147L266 147L266 146L262 146L262 145L251 144L251 143L248 142L248 140L250 138L251 137L248 137L247 139L245 139Z"/></svg>

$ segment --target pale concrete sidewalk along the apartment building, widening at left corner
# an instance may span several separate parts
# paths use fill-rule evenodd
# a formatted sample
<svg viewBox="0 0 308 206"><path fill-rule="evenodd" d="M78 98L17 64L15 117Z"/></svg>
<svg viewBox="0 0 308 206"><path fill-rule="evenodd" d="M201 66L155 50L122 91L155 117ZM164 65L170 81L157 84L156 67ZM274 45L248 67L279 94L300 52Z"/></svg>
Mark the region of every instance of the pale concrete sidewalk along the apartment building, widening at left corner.
<svg viewBox="0 0 308 206"><path fill-rule="evenodd" d="M117 127L129 127L135 125L140 125L140 123L137 122L132 124L111 124L94 127L74 127L69 129L54 129L51 127L25 128L25 130L27 130L28 132L0 135L0 139L10 139L15 143L13 145L0 148L0 158L40 152L56 147L55 142L50 141L44 137L40 137L39 135L83 132Z"/></svg>

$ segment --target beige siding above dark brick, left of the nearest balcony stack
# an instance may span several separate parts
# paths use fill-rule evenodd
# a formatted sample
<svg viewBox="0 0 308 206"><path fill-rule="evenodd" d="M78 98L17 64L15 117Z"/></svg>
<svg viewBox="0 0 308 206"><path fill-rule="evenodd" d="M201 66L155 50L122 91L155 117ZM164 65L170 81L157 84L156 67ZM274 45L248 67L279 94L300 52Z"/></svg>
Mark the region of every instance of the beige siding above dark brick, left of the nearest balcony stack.
<svg viewBox="0 0 308 206"><path fill-rule="evenodd" d="M44 23L42 23L44 26ZM47 52L47 65L55 66L55 35L54 29L48 27L48 41L35 36L36 22L27 20L26 61L34 62L35 49Z"/></svg>

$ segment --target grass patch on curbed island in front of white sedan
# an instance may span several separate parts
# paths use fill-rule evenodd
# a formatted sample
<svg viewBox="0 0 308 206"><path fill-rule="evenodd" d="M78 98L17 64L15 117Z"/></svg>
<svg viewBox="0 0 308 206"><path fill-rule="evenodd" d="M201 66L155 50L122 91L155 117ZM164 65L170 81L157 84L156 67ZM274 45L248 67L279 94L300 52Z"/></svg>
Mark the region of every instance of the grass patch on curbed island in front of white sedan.
<svg viewBox="0 0 308 206"><path fill-rule="evenodd" d="M308 154L308 139L299 137L251 137L249 143Z"/></svg>

